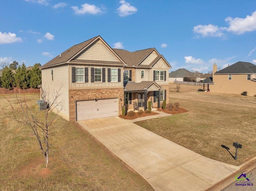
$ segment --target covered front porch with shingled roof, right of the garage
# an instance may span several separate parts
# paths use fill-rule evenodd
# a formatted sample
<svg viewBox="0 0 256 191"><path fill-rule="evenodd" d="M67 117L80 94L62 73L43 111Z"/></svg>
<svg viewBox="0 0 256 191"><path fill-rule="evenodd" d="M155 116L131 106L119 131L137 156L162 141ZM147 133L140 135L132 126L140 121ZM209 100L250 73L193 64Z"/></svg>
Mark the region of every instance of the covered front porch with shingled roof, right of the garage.
<svg viewBox="0 0 256 191"><path fill-rule="evenodd" d="M128 81L128 83L124 84L124 105L126 110L146 110L148 101L151 101L152 108L160 108L160 102L165 97L166 91L154 81L142 81L140 83Z"/></svg>

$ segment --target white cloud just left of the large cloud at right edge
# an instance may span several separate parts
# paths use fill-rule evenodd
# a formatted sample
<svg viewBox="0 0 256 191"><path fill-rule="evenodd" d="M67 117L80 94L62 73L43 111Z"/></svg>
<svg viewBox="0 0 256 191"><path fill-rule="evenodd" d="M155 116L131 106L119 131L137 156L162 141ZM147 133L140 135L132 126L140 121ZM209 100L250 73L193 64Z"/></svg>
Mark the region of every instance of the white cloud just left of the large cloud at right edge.
<svg viewBox="0 0 256 191"><path fill-rule="evenodd" d="M225 28L218 26L214 26L212 24L209 25L198 25L195 26L193 32L199 33L202 37L212 36L212 37L222 37L224 33L222 32Z"/></svg>

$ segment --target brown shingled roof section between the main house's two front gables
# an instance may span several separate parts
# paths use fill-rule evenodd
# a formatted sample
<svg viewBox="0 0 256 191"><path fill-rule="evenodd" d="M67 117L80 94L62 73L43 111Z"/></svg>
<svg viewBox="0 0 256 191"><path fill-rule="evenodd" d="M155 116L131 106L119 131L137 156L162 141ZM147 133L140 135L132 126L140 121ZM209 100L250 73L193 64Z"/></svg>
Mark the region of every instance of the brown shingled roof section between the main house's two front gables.
<svg viewBox="0 0 256 191"><path fill-rule="evenodd" d="M113 49L117 55L130 67L138 65L154 48L129 52L122 49Z"/></svg>

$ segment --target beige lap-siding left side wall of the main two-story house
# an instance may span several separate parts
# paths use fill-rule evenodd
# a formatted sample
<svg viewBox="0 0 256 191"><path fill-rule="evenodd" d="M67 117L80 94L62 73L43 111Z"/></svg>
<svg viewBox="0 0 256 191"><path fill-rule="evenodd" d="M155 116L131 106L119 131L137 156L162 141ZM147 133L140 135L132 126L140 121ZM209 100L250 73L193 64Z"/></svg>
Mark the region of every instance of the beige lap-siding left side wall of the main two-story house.
<svg viewBox="0 0 256 191"><path fill-rule="evenodd" d="M52 81L52 70L53 70L53 81ZM68 65L42 69L42 88L48 89L49 102L52 102L53 100L52 95L54 95L54 91L57 91L60 89L61 95L58 97L57 102L60 102L62 100L64 101L63 102L64 108L60 111L60 116L69 120Z"/></svg>

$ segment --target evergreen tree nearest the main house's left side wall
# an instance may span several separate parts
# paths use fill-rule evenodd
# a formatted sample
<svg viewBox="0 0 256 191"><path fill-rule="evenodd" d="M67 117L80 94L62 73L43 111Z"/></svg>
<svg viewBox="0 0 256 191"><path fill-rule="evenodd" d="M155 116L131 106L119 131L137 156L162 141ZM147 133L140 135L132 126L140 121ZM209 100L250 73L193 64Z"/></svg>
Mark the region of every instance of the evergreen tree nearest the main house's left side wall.
<svg viewBox="0 0 256 191"><path fill-rule="evenodd" d="M38 85L42 83L42 72L39 69L39 65L40 63L36 63L29 72L29 76L30 76L29 86L31 88L37 88Z"/></svg>

